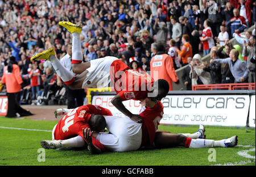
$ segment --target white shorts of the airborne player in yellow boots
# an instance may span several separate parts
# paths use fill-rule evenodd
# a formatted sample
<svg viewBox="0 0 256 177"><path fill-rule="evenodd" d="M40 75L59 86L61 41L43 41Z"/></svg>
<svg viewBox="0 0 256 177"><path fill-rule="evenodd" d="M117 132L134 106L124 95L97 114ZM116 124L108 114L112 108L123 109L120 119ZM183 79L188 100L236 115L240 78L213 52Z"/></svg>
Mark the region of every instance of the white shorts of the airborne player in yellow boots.
<svg viewBox="0 0 256 177"><path fill-rule="evenodd" d="M90 61L90 68L82 88L102 88L108 87L110 83L110 66L113 61L119 60L116 57L104 57Z"/></svg>

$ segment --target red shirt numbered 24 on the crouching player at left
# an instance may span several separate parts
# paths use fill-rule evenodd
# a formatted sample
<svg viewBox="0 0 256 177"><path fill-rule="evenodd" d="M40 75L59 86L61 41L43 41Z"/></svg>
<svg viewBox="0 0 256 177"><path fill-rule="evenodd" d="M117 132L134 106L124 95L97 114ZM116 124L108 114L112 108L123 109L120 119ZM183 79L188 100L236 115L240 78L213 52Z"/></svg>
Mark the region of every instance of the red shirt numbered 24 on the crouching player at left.
<svg viewBox="0 0 256 177"><path fill-rule="evenodd" d="M100 106L88 104L77 107L61 118L59 123L56 125L54 132L55 140L67 140L78 135L84 138L82 129L89 128L88 122L92 114L112 116L109 109ZM105 147L98 140L94 137L92 137L92 140L95 146L101 150L105 150Z"/></svg>

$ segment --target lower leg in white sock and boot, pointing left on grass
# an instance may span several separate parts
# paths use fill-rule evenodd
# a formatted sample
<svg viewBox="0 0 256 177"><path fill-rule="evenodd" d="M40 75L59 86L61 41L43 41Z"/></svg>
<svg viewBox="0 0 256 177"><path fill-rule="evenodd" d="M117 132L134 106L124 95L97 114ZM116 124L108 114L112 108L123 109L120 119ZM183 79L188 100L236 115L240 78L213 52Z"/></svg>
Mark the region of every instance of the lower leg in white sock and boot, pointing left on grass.
<svg viewBox="0 0 256 177"><path fill-rule="evenodd" d="M84 147L87 145L81 136L76 136L67 140L42 140L40 143L44 149L60 150L72 149L74 147Z"/></svg>

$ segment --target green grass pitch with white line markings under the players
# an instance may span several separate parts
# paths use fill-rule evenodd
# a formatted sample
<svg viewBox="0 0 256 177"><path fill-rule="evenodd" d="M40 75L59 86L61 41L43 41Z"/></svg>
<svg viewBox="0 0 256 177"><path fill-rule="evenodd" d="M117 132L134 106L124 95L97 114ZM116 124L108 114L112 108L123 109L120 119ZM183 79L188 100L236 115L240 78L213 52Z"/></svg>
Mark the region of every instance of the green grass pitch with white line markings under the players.
<svg viewBox="0 0 256 177"><path fill-rule="evenodd" d="M91 155L88 150L45 150L42 156L40 140L51 140L51 132L23 129L52 130L56 123L0 117L0 166L255 166L254 128L205 127L208 139L221 140L237 135L238 146L233 148L176 147L98 155ZM159 125L159 129L172 133L195 133L198 126Z"/></svg>

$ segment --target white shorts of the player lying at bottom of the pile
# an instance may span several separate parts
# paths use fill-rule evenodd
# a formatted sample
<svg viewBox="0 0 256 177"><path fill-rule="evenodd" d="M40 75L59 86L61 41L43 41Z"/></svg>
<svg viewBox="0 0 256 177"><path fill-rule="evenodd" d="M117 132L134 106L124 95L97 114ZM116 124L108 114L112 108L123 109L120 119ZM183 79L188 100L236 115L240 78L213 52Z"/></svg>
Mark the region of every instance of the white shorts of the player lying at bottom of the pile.
<svg viewBox="0 0 256 177"><path fill-rule="evenodd" d="M97 140L110 151L132 151L141 147L142 124L129 117L106 116L110 133L100 133Z"/></svg>

